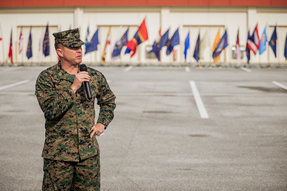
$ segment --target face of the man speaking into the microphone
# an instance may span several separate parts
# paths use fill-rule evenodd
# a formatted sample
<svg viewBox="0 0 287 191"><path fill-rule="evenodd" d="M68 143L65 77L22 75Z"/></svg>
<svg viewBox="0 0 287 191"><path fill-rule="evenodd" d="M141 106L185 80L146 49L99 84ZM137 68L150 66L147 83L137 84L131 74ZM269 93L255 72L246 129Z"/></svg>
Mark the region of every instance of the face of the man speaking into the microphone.
<svg viewBox="0 0 287 191"><path fill-rule="evenodd" d="M71 65L78 65L82 62L83 51L82 47L68 47L62 46L63 59Z"/></svg>

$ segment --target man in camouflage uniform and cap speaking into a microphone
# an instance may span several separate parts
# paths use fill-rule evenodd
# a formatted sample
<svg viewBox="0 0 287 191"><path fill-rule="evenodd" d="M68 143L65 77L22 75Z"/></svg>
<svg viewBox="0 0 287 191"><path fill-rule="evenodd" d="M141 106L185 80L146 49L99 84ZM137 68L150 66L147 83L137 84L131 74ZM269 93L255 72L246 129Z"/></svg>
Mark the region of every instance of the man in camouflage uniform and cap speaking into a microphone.
<svg viewBox="0 0 287 191"><path fill-rule="evenodd" d="M46 119L42 190L100 190L96 136L114 117L115 95L101 72L79 70L85 44L79 29L53 36L60 61L40 73L35 91ZM90 83L92 99L87 97L85 81ZM100 113L95 124L96 99Z"/></svg>

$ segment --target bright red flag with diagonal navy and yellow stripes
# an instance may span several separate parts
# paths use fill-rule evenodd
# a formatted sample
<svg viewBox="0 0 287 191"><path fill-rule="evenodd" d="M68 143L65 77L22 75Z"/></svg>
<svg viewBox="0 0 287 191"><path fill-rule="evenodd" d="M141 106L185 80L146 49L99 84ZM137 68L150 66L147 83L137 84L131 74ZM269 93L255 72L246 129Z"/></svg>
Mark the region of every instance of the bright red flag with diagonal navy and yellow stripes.
<svg viewBox="0 0 287 191"><path fill-rule="evenodd" d="M129 52L133 51L131 57L135 55L135 52L137 51L137 45L141 44L142 42L145 42L146 40L148 40L148 30L146 28L145 18L133 38L126 45L127 48L130 50Z"/></svg>

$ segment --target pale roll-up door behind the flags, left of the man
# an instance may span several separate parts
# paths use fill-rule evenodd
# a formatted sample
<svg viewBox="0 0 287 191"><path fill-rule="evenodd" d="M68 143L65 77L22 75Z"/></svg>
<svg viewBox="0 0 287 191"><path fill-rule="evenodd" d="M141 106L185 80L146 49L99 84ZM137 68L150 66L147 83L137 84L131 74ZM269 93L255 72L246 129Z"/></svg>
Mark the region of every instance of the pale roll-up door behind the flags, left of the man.
<svg viewBox="0 0 287 191"><path fill-rule="evenodd" d="M50 55L44 56L42 47L40 47L40 39L43 42L44 35L46 31L46 26L32 26L32 54L33 56L28 60L26 56L29 34L30 34L30 26L22 26L22 35L23 35L23 50L21 54L19 54L19 40L20 40L20 31L21 26L17 27L17 36L16 41L14 41L13 46L16 47L16 54L14 61L15 63L51 63L52 65L57 64L58 55L55 50L55 37L53 33L59 32L58 26L49 26L49 46L50 46ZM41 32L42 31L42 32ZM42 37L42 38L41 38ZM15 49L14 49L15 50Z"/></svg>

